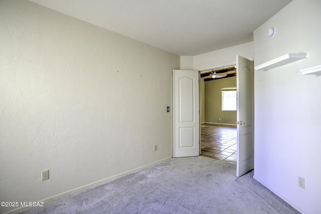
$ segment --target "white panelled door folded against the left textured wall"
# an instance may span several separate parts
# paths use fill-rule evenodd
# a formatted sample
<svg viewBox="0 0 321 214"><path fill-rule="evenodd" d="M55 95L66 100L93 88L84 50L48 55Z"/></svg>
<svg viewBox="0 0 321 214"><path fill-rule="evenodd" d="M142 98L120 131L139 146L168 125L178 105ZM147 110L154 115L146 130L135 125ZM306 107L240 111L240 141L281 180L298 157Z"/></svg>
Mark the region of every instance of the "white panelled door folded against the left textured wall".
<svg viewBox="0 0 321 214"><path fill-rule="evenodd" d="M198 156L199 72L173 71L174 157Z"/></svg>

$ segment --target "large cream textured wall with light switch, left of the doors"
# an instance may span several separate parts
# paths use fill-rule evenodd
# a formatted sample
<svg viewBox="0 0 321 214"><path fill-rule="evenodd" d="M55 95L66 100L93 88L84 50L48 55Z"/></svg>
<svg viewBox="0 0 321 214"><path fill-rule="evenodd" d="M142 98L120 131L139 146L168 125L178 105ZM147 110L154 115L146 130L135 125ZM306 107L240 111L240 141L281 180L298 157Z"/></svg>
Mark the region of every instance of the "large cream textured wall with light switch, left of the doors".
<svg viewBox="0 0 321 214"><path fill-rule="evenodd" d="M29 1L1 1L0 20L1 201L43 200L172 156L179 56Z"/></svg>

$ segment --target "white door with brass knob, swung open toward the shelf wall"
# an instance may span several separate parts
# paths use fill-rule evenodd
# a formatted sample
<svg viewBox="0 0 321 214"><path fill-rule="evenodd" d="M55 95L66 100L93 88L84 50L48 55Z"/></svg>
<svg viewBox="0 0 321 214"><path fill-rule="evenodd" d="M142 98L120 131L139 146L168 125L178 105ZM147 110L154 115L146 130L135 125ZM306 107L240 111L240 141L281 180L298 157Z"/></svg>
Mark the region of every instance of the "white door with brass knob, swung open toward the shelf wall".
<svg viewBox="0 0 321 214"><path fill-rule="evenodd" d="M254 168L254 63L236 56L237 169L239 177Z"/></svg>

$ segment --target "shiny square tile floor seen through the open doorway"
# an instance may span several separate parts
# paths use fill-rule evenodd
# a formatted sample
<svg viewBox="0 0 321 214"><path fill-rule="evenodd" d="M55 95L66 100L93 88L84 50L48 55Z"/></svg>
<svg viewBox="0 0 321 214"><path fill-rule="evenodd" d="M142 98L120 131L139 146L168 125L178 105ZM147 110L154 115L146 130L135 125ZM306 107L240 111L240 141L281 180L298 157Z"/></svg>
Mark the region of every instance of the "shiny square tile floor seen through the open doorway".
<svg viewBox="0 0 321 214"><path fill-rule="evenodd" d="M203 123L201 126L201 155L236 164L236 126L218 126Z"/></svg>

